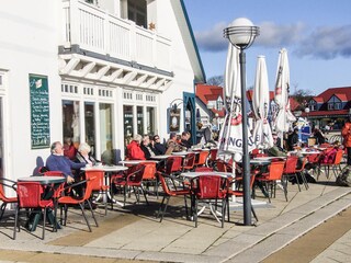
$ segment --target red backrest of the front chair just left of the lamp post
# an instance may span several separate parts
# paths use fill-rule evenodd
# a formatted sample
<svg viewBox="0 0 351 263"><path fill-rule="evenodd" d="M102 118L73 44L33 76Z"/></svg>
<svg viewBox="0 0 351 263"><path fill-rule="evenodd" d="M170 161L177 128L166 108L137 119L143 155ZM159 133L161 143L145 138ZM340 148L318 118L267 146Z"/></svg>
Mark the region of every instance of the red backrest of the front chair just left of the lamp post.
<svg viewBox="0 0 351 263"><path fill-rule="evenodd" d="M225 191L223 191L223 178L217 175L201 175L196 178L197 187L196 196L201 199L223 198Z"/></svg>

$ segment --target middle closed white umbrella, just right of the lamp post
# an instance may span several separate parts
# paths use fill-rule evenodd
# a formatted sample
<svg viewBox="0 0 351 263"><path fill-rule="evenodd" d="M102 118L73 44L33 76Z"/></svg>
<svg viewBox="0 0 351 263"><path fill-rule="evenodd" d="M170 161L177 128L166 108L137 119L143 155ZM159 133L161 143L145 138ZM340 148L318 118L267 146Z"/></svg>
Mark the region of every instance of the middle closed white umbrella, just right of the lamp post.
<svg viewBox="0 0 351 263"><path fill-rule="evenodd" d="M259 56L257 61L252 107L257 119L253 129L254 144L258 149L271 148L273 137L267 119L270 108L270 91L264 56Z"/></svg>

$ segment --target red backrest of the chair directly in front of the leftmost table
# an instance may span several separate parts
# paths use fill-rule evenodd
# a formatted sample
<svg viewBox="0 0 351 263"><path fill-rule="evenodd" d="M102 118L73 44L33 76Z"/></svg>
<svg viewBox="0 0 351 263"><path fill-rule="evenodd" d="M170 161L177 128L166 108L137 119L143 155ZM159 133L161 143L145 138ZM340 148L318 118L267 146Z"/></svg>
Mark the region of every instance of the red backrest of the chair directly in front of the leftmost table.
<svg viewBox="0 0 351 263"><path fill-rule="evenodd" d="M18 182L20 207L36 208L41 206L43 187L38 182Z"/></svg>

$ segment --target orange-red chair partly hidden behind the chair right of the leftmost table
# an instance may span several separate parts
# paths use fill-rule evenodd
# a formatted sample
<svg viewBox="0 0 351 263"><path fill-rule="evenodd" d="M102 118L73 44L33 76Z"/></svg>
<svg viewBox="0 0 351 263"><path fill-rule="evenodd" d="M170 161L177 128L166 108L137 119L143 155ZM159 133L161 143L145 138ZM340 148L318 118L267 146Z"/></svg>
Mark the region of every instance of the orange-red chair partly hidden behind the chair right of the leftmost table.
<svg viewBox="0 0 351 263"><path fill-rule="evenodd" d="M105 172L103 170L86 170L86 178L95 178L92 180L91 183L91 191L92 194L94 192L98 192L99 194L102 194L103 201L104 201L104 209L105 215L107 215L107 192L110 191L110 186L105 184Z"/></svg>

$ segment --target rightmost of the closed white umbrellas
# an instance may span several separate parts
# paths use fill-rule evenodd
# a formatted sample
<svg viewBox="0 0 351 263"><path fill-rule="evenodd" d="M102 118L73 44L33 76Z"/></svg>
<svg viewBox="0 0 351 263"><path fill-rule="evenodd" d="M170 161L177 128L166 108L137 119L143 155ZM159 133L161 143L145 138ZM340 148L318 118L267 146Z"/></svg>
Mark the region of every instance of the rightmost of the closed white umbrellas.
<svg viewBox="0 0 351 263"><path fill-rule="evenodd" d="M276 132L288 132L290 126L296 121L290 110L288 90L290 90L290 69L287 60L287 50L282 48L279 53L276 81L275 81L274 101L279 107L278 115L274 117L274 127Z"/></svg>

